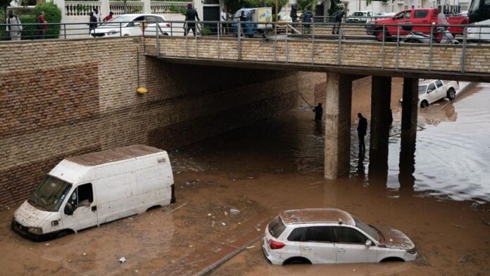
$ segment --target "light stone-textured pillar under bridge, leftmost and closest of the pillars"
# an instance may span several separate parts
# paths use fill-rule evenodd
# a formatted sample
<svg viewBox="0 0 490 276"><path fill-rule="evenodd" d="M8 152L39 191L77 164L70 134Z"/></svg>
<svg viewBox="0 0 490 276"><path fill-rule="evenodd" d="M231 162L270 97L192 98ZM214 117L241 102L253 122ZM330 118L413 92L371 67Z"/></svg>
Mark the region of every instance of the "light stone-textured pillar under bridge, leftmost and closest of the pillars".
<svg viewBox="0 0 490 276"><path fill-rule="evenodd" d="M325 178L349 172L352 77L327 73L325 102Z"/></svg>

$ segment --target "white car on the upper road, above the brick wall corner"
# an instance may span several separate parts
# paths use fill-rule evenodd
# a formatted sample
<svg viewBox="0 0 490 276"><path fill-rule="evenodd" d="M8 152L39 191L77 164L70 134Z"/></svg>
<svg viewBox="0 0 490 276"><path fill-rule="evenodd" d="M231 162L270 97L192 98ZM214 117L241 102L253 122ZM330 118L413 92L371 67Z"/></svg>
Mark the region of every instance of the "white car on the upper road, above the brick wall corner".
<svg viewBox="0 0 490 276"><path fill-rule="evenodd" d="M113 20L101 23L90 33L91 37L125 37L136 35L156 35L156 24L160 26L159 35L170 35L171 25L157 14L124 14Z"/></svg>

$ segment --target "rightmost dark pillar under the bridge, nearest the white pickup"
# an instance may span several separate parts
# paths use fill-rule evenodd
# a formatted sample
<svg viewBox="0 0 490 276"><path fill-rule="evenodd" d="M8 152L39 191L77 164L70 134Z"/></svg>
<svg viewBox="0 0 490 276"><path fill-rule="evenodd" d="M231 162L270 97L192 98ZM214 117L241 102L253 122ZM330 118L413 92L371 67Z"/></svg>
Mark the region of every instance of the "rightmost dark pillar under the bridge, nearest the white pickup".
<svg viewBox="0 0 490 276"><path fill-rule="evenodd" d="M415 141L417 139L418 79L403 80L403 102L401 110L400 193L411 196L415 177Z"/></svg>

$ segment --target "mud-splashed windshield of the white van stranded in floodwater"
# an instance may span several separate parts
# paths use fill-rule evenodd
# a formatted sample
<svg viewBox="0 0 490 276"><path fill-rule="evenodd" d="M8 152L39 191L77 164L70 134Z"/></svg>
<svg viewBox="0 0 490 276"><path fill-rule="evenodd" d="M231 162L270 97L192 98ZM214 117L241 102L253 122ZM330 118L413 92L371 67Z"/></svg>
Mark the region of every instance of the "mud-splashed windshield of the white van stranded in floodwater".
<svg viewBox="0 0 490 276"><path fill-rule="evenodd" d="M44 211L57 212L71 186L68 182L46 175L27 201Z"/></svg>

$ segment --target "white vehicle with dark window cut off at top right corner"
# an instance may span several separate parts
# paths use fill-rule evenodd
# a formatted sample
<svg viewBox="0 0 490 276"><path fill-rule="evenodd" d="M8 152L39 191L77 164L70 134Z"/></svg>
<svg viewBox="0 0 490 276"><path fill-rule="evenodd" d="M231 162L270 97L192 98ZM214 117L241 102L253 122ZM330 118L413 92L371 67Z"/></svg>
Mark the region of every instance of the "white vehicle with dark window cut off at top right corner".
<svg viewBox="0 0 490 276"><path fill-rule="evenodd" d="M468 10L468 38L490 40L490 0L472 0ZM477 27L483 25L482 27Z"/></svg>

